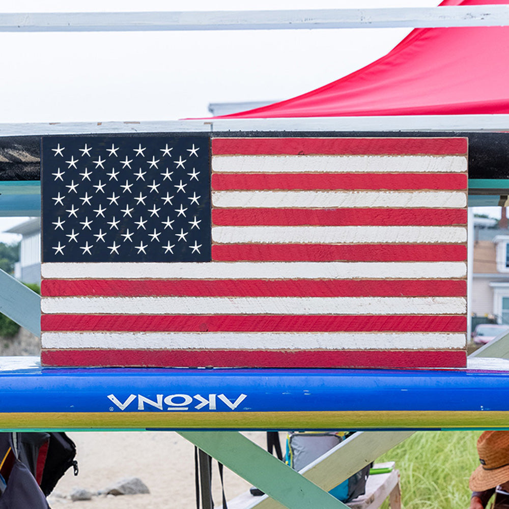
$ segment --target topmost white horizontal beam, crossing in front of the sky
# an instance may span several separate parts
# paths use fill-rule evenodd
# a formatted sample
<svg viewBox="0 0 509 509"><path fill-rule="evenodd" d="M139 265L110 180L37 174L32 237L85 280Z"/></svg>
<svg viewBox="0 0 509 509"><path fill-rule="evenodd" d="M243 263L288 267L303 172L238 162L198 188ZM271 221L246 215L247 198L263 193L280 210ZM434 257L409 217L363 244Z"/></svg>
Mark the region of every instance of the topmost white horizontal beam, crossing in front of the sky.
<svg viewBox="0 0 509 509"><path fill-rule="evenodd" d="M509 6L501 5L285 11L0 14L1 32L295 30L508 24Z"/></svg>

